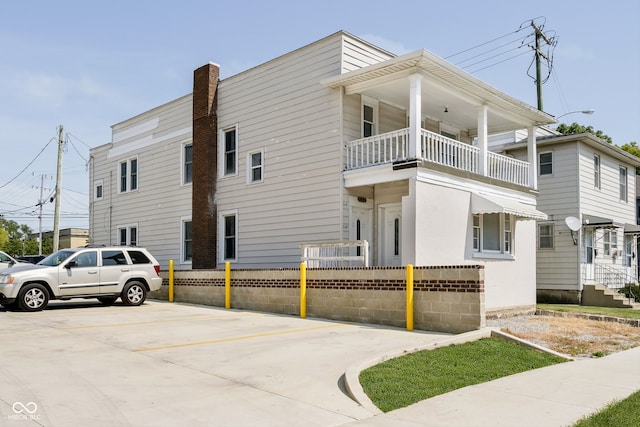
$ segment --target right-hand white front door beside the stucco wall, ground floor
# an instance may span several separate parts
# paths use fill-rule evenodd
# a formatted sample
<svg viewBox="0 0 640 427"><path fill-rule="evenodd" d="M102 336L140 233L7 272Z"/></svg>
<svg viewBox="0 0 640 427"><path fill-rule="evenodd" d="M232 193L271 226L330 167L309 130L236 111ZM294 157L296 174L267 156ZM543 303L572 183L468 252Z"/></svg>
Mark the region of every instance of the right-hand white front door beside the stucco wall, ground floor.
<svg viewBox="0 0 640 427"><path fill-rule="evenodd" d="M378 213L381 265L402 265L402 204L380 205Z"/></svg>

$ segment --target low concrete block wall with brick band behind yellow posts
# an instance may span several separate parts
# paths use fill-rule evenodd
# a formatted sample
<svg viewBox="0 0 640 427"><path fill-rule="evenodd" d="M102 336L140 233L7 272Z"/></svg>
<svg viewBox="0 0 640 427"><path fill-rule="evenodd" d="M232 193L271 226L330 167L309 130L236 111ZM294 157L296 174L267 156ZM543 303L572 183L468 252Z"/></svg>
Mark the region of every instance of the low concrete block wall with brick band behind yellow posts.
<svg viewBox="0 0 640 427"><path fill-rule="evenodd" d="M168 273L150 298L168 298ZM307 270L307 316L406 326L404 267ZM174 300L224 307L225 272L174 272ZM231 307L300 314L300 270L231 271ZM414 328L461 333L485 326L482 266L414 268Z"/></svg>

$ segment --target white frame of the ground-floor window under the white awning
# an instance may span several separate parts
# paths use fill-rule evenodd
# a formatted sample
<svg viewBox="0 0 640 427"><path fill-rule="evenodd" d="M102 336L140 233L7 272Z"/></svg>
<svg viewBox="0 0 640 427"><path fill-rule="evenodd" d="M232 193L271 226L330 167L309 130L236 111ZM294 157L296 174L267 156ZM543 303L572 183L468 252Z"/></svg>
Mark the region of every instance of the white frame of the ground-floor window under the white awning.
<svg viewBox="0 0 640 427"><path fill-rule="evenodd" d="M498 215L499 249L484 249L484 221L487 215ZM514 258L514 236L516 217L505 213L472 215L472 248L474 258ZM509 227L507 228L507 225ZM507 243L508 239L508 243Z"/></svg>

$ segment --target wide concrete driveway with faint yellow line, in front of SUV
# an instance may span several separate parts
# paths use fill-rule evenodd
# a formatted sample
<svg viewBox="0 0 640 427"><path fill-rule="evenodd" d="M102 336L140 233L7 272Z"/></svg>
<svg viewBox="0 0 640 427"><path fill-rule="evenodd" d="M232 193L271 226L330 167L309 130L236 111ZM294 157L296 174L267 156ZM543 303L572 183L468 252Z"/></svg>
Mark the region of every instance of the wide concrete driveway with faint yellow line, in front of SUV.
<svg viewBox="0 0 640 427"><path fill-rule="evenodd" d="M350 366L449 336L147 301L0 311L0 426L332 426Z"/></svg>

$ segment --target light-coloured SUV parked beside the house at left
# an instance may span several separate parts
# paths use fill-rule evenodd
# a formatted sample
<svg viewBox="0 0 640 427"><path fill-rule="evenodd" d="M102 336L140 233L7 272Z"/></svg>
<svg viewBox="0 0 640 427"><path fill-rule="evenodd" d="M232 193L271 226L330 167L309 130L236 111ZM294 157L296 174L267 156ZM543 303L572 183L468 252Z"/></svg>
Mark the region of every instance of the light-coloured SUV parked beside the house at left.
<svg viewBox="0 0 640 427"><path fill-rule="evenodd" d="M161 286L160 264L144 248L63 249L38 264L0 270L0 304L38 311L51 299L97 298L110 305L120 297L140 305Z"/></svg>

